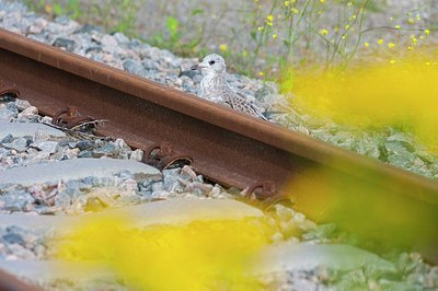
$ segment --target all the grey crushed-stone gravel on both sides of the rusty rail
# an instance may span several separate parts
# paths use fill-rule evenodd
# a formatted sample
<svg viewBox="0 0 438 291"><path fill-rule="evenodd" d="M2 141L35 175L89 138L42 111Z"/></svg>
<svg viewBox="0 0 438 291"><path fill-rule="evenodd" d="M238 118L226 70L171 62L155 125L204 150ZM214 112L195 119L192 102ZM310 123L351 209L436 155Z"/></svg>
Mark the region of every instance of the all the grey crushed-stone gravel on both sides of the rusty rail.
<svg viewBox="0 0 438 291"><path fill-rule="evenodd" d="M0 0L0 27L61 49L126 70L174 89L195 94L200 75L187 71L197 59L184 59L169 50L160 50L120 33L108 35L99 27L80 25L67 18L54 22L34 14L18 2ZM234 91L258 100L265 108L285 105L274 83L263 83L243 75L229 74ZM380 159L390 164L438 178L437 156L431 155L415 139L393 128L383 131L357 131L330 120L290 112L272 116L273 120L292 130L310 135L333 144ZM50 123L38 115L37 108L23 100L0 101L0 121ZM3 135L0 139L0 174L9 168L39 163L56 163L81 158L124 159L140 161L141 150L131 150L120 139L99 138L87 132L66 131L51 136L44 130L34 135ZM31 186L3 185L0 188L0 212L28 216L78 214L106 208L134 206L154 200L180 197L203 199L234 199L235 194L220 185L205 183L189 166L169 168L162 179L137 178L122 171L107 177L85 177L43 183ZM239 196L238 196L239 197ZM357 237L339 232L334 224L318 225L291 208L276 205L266 212L277 231L273 243L341 244L361 247ZM0 259L48 259L53 257L53 237L37 231L11 225L0 228ZM349 270L316 268L288 270L261 278L266 290L430 290L438 288L438 269L423 263L415 253L379 254L394 264L396 270L379 272L372 266ZM92 282L100 289L124 290L117 282ZM90 286L90 284L89 284ZM74 282L53 282L50 290L90 290Z"/></svg>

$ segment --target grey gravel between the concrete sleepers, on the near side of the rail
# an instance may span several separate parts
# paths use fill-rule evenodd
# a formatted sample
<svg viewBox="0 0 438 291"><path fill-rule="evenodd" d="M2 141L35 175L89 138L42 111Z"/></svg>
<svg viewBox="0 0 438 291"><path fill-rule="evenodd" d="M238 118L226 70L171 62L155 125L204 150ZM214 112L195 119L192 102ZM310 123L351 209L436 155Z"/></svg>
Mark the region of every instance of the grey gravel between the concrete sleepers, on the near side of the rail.
<svg viewBox="0 0 438 291"><path fill-rule="evenodd" d="M12 124L22 126L23 123L37 125L37 121L49 121L49 118L35 114L20 115L22 110L31 106L21 100L0 104L13 113L8 117ZM26 105L22 106L23 104ZM34 136L26 136L23 130L15 131L22 135L14 130L11 130L11 133L4 132L0 142L0 173L32 164L59 163L62 160L72 159L131 159L139 161L142 158L140 150L132 151L122 139L97 138L80 131L66 131L65 135L55 133L54 136L46 132L44 128L33 131ZM3 184L0 186L0 213L77 216L108 208L129 207L182 197L240 198L235 191L228 191L220 185L205 183L204 177L197 175L189 166L164 170L161 178L145 178L129 170L124 170L108 176L87 176L61 179L56 183L34 183L26 186ZM270 237L274 252L278 252L275 249L277 247L280 249L285 243L327 246L343 243L347 244L347 247L348 245L362 247L356 240L357 237L337 231L336 225L318 225L302 213L283 205L275 205L267 211L266 219L276 230ZM23 229L16 225L0 228L0 259L7 261L50 260L55 258L54 243L56 242L56 236L50 232ZM284 260L285 257L281 257ZM320 258L313 257L312 259L310 256L300 256L290 258L290 261L309 266L309 264L318 264ZM332 266L325 263L328 266L265 271L260 276L260 280L261 286L266 290L337 290L337 288L356 287L371 290L380 290L379 288L420 290L426 286L437 287L436 267L424 264L420 256L399 252L387 259L394 264L395 271L379 271L384 267L380 266L380 260L376 260L371 266L358 267L355 265L354 268L343 270L339 270L338 265L334 263L331 263ZM272 264L275 266L275 263L276 260ZM384 260L382 264L388 263ZM65 290L66 288L90 290L87 286L124 288L116 280L100 281L97 279L88 283L74 283L68 280L39 283L48 290Z"/></svg>

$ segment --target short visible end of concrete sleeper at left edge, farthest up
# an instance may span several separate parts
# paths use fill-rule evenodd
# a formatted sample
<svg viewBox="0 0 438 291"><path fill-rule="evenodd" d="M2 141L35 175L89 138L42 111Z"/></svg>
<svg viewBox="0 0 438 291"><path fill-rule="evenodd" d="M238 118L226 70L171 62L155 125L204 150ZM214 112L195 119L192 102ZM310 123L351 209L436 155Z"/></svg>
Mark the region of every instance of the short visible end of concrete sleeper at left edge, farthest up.
<svg viewBox="0 0 438 291"><path fill-rule="evenodd" d="M43 130L47 132L49 136L54 137L65 137L66 133L64 131L47 126L45 124L35 124L35 123L4 123L0 121L0 140L2 140L5 136L12 135L13 137L24 137L31 136L34 137L35 132L38 130Z"/></svg>

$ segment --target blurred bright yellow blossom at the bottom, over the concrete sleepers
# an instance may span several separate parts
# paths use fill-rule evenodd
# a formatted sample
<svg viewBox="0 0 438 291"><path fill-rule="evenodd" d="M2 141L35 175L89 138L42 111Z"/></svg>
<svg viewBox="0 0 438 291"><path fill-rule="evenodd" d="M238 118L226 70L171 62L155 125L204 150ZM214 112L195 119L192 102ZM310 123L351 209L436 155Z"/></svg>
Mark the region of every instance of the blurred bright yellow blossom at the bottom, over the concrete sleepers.
<svg viewBox="0 0 438 291"><path fill-rule="evenodd" d="M99 260L129 290L260 290L245 271L258 263L255 256L268 242L263 221L207 220L138 230L125 217L84 223L61 242L58 258Z"/></svg>

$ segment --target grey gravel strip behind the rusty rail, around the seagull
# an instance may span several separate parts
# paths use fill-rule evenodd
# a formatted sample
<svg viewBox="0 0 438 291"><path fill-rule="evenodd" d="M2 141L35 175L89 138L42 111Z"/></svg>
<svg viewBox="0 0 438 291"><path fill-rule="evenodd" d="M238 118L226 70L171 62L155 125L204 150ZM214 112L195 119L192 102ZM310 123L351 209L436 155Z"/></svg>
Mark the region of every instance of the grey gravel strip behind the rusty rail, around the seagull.
<svg viewBox="0 0 438 291"><path fill-rule="evenodd" d="M199 73L189 71L197 59L180 58L122 33L108 35L99 27L80 25L65 16L50 22L18 2L0 1L0 26L191 94L196 94L201 79ZM438 178L437 154L428 152L408 132L394 128L359 130L339 126L302 114L299 108L291 109L273 82L264 83L240 74L228 74L228 82L234 91L257 100L268 112L288 108L287 114L269 115L276 124L406 171ZM19 118L26 115L38 118L34 107L27 107ZM0 119L11 120L15 116L16 108L0 107ZM401 151L394 150L394 146ZM83 155L90 156L90 153Z"/></svg>

